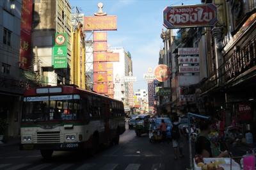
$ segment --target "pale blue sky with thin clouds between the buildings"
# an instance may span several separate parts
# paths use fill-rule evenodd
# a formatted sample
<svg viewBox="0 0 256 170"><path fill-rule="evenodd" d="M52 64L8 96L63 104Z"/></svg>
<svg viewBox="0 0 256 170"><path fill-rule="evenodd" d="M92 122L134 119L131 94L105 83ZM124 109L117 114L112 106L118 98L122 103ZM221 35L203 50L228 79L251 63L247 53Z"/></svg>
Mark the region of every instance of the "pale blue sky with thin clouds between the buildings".
<svg viewBox="0 0 256 170"><path fill-rule="evenodd" d="M163 28L163 9L165 6L184 4L199 4L198 0L70 0L72 6L77 6L84 15L97 12L97 3L104 4L103 11L108 15L117 15L117 31L108 31L108 44L112 47L124 47L131 52L134 91L147 89L143 73L148 67L157 65L159 50L163 47L160 34Z"/></svg>

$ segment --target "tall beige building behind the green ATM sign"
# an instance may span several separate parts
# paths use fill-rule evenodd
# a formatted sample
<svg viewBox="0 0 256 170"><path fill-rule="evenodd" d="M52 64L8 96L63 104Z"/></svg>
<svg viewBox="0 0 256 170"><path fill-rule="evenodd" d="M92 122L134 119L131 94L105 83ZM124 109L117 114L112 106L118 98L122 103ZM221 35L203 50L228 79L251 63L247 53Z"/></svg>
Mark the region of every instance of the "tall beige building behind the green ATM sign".
<svg viewBox="0 0 256 170"><path fill-rule="evenodd" d="M71 6L68 0L35 1L33 4L33 62L34 71L42 85L70 84L71 65ZM54 35L67 33L67 68L52 67Z"/></svg>

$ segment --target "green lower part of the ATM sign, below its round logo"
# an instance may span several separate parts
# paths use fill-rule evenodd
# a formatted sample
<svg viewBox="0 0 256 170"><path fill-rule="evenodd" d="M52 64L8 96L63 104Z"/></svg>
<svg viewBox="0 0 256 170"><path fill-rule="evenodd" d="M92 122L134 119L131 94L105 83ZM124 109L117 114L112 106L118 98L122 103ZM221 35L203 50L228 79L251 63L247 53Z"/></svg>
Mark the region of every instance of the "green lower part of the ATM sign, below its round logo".
<svg viewBox="0 0 256 170"><path fill-rule="evenodd" d="M67 68L67 46L53 47L53 68Z"/></svg>

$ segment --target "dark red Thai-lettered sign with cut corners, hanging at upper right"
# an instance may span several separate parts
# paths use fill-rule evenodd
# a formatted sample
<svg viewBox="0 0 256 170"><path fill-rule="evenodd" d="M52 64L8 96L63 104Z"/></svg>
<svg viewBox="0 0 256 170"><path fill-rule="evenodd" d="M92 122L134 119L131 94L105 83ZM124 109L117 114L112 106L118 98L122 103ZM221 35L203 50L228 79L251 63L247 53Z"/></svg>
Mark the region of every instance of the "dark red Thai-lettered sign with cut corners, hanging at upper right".
<svg viewBox="0 0 256 170"><path fill-rule="evenodd" d="M163 25L168 29L214 26L218 21L217 7L214 4L166 6L163 15Z"/></svg>

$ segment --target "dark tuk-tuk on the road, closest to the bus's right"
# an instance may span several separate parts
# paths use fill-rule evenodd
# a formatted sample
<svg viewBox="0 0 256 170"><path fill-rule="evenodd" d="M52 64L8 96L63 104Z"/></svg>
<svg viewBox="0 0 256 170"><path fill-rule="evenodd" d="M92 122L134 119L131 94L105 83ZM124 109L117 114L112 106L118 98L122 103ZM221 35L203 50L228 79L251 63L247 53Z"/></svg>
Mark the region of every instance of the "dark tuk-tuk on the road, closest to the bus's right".
<svg viewBox="0 0 256 170"><path fill-rule="evenodd" d="M150 115L149 114L139 114L136 117L136 127L135 132L137 136L141 136L141 134L148 134L148 128L150 125Z"/></svg>

